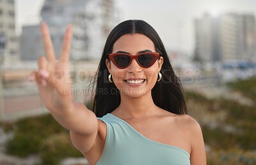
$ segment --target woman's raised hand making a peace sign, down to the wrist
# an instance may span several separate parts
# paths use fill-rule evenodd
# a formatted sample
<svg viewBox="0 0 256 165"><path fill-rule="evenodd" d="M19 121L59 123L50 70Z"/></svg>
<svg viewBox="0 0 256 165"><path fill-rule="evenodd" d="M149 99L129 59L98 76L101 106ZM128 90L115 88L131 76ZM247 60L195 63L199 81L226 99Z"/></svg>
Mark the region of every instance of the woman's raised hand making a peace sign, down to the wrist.
<svg viewBox="0 0 256 165"><path fill-rule="evenodd" d="M68 74L72 26L68 25L63 38L60 59L56 59L51 36L45 22L41 23L46 58L38 58L38 71L29 76L36 81L40 97L47 109L68 109L72 104L71 76Z"/></svg>

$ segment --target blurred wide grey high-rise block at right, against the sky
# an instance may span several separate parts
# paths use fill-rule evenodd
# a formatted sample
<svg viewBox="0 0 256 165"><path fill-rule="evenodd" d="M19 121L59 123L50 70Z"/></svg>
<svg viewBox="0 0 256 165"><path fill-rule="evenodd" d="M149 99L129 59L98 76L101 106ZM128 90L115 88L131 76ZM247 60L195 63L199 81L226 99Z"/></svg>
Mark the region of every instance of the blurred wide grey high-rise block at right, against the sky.
<svg viewBox="0 0 256 165"><path fill-rule="evenodd" d="M237 13L196 19L195 58L209 63L255 58L255 24L254 15Z"/></svg>

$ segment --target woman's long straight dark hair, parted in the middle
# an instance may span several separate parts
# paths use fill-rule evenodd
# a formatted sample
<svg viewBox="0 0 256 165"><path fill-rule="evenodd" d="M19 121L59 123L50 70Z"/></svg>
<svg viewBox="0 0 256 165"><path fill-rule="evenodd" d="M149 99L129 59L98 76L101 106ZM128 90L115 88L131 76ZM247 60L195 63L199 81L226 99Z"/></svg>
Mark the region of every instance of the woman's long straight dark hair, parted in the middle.
<svg viewBox="0 0 256 165"><path fill-rule="evenodd" d="M163 42L156 30L143 20L125 20L109 33L94 78L92 111L97 117L102 117L120 105L120 92L114 83L108 81L109 72L106 59L108 59L109 53L113 51L113 45L120 36L134 33L140 33L150 38L154 42L156 52L159 52L160 56L164 58L160 71L163 78L152 89L154 104L175 114L188 114L180 80L173 71Z"/></svg>

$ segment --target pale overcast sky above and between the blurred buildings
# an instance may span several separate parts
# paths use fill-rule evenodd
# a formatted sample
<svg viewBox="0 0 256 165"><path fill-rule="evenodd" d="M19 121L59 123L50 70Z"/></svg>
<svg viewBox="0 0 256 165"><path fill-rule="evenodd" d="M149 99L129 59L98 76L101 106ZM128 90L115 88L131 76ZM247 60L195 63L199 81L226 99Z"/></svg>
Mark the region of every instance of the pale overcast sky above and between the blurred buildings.
<svg viewBox="0 0 256 165"><path fill-rule="evenodd" d="M195 19L209 13L250 13L256 15L255 0L115 0L120 22L142 19L148 22L163 40L167 50L192 54L195 49ZM17 34L21 27L40 22L44 0L16 0Z"/></svg>

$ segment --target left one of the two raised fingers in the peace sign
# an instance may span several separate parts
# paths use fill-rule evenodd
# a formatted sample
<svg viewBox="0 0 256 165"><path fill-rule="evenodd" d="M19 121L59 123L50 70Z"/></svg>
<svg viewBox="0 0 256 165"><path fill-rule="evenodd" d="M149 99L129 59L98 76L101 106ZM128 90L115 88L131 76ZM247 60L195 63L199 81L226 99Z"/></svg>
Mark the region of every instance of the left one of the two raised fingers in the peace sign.
<svg viewBox="0 0 256 165"><path fill-rule="evenodd" d="M51 40L51 36L49 34L49 30L47 28L47 25L45 24L44 21L41 23L41 31L42 31L42 37L43 37L46 57L49 61L54 62L56 58L55 58L55 55L54 55L52 40Z"/></svg>

